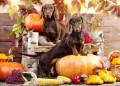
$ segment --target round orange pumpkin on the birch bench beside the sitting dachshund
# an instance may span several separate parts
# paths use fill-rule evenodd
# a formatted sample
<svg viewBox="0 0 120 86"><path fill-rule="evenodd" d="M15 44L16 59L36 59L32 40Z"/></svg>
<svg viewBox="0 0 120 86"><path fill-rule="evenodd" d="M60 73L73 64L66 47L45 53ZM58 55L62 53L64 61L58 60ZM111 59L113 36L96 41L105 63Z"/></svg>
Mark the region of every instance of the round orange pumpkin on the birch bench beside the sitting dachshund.
<svg viewBox="0 0 120 86"><path fill-rule="evenodd" d="M25 17L25 25L28 29L34 29L36 32L42 33L42 25L44 19L39 19L39 15L36 13L31 13Z"/></svg>

